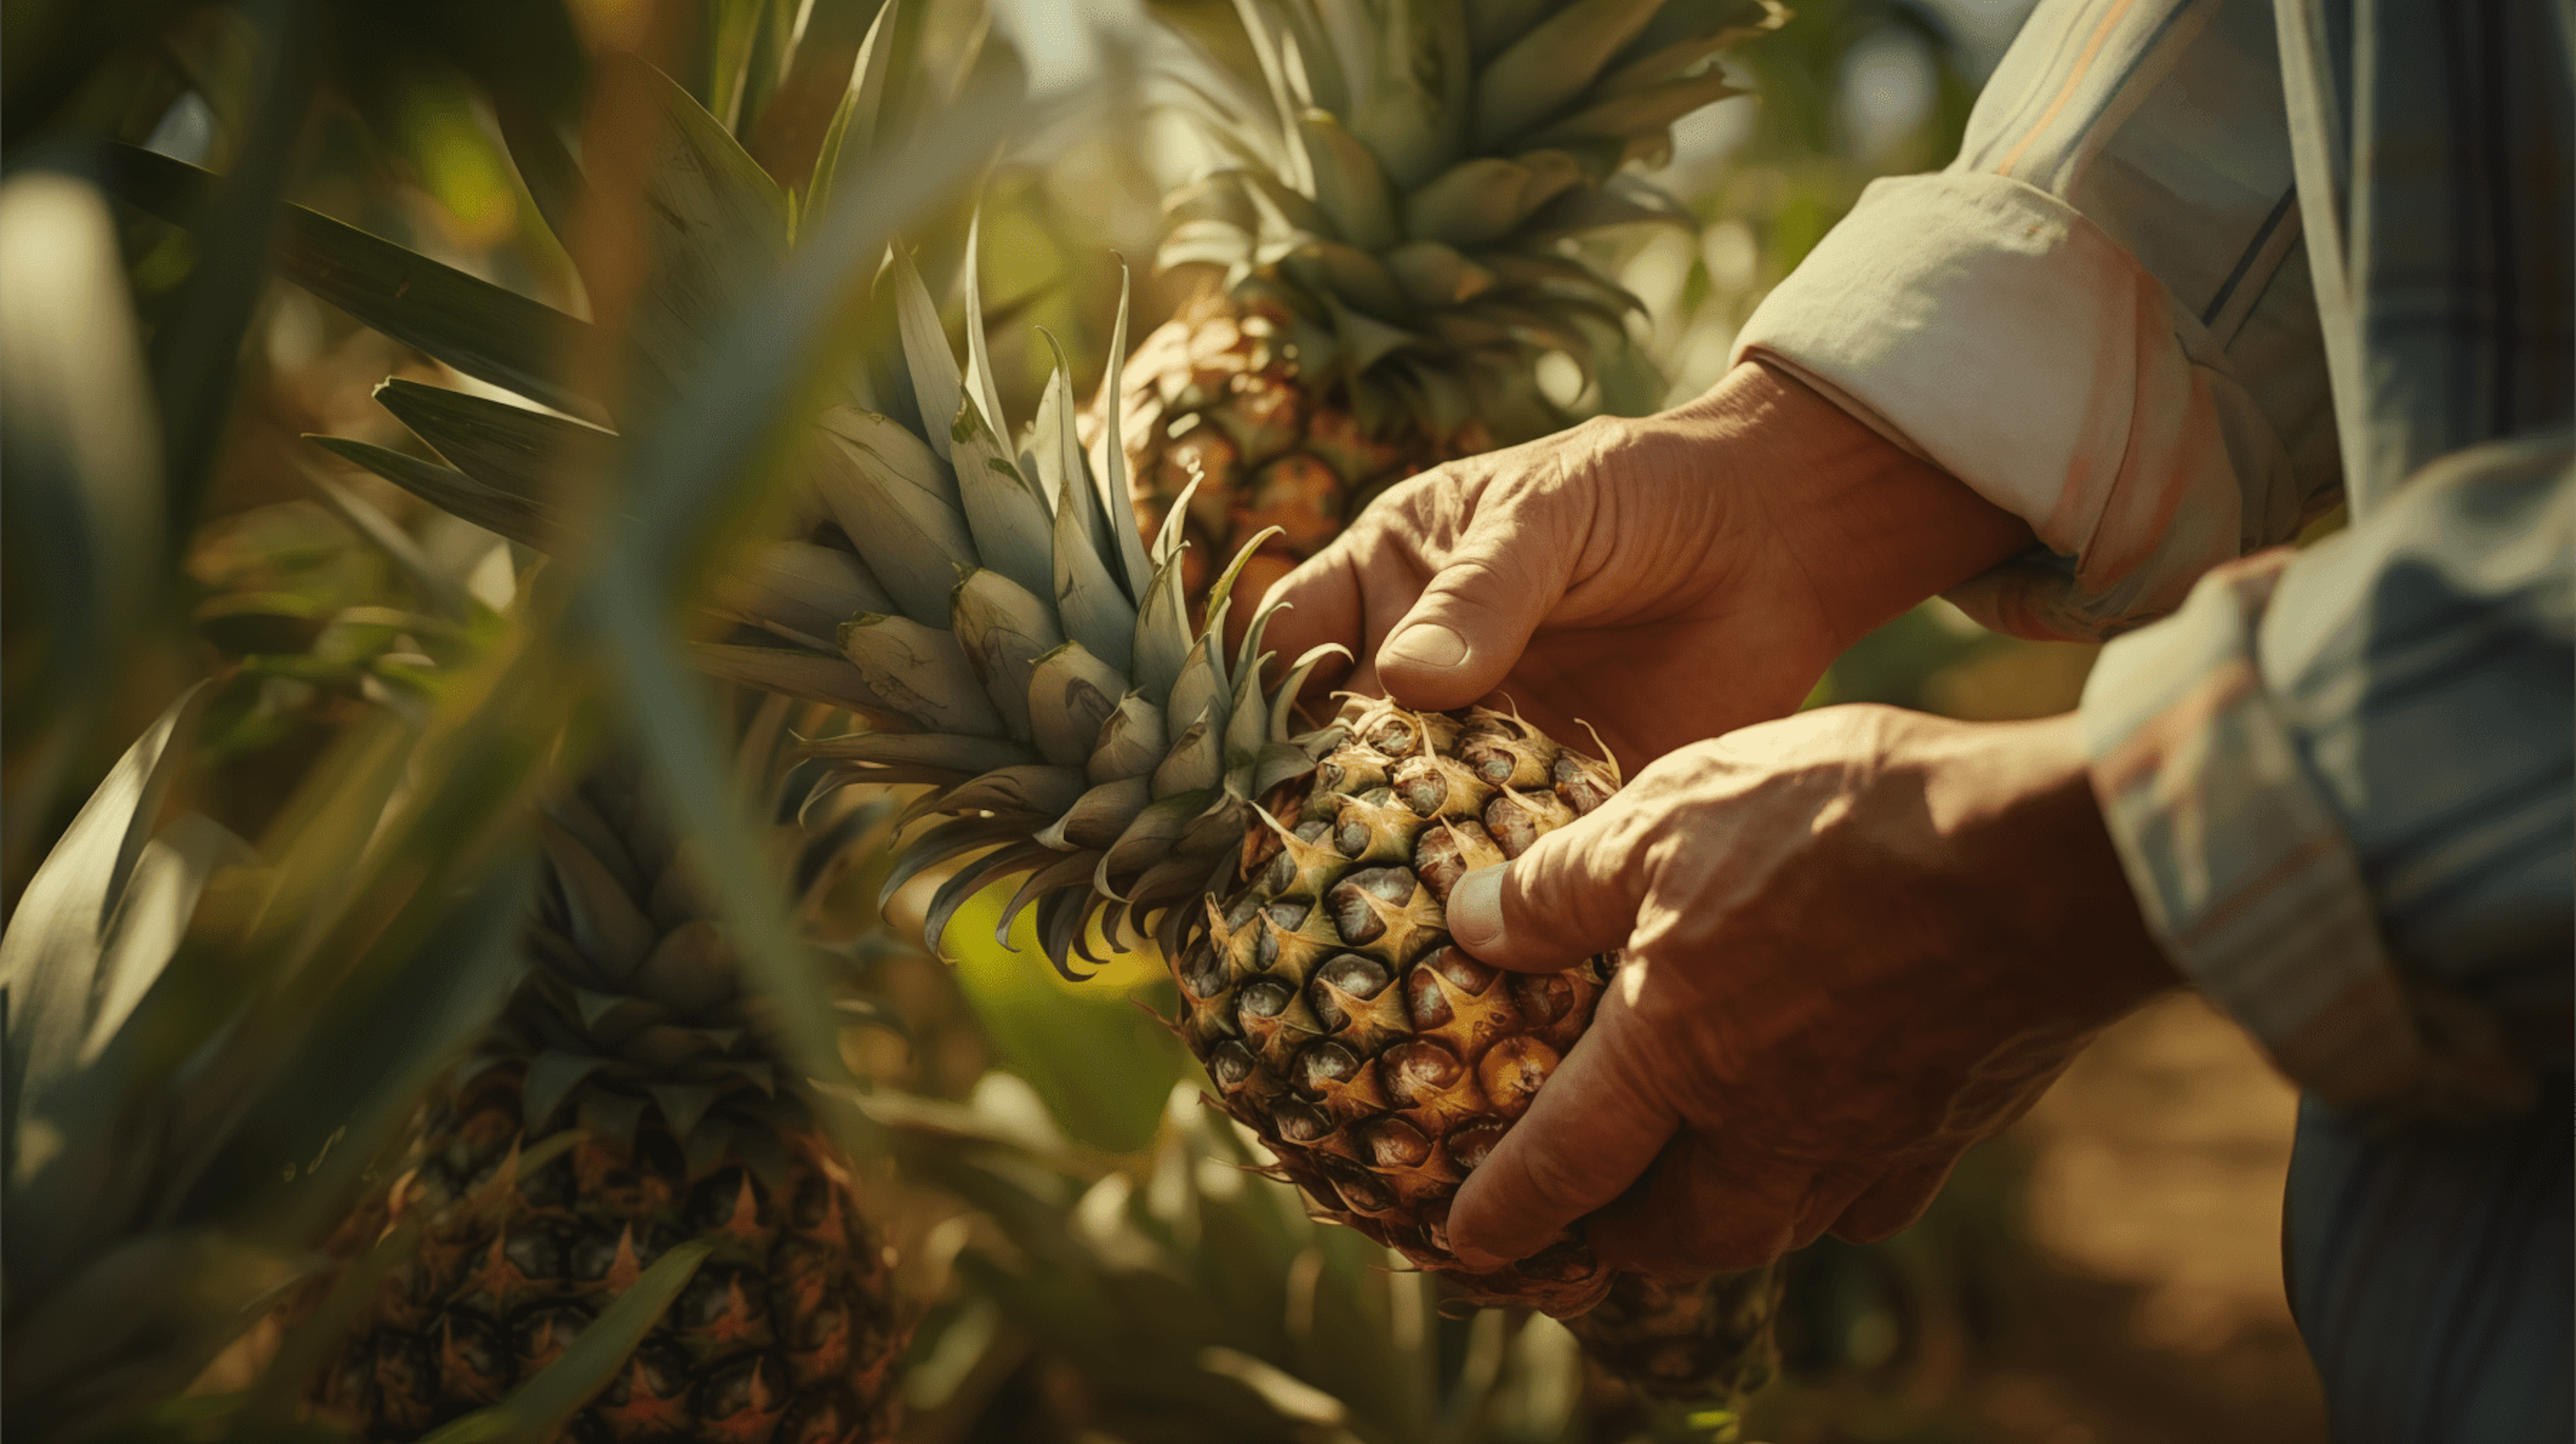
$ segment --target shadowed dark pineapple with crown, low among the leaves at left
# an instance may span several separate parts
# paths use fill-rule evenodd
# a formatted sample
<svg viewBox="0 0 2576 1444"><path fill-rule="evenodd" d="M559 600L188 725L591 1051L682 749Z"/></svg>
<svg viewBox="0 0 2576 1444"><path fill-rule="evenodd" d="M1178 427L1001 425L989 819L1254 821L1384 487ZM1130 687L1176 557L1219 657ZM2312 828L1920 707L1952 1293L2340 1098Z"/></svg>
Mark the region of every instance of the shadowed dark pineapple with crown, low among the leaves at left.
<svg viewBox="0 0 2576 1444"><path fill-rule="evenodd" d="M392 1269L314 1387L415 1439L544 1369L680 1240L714 1253L572 1439L845 1444L894 1434L907 1328L845 1163L760 1021L680 841L613 761L549 807L531 972L410 1166L335 1233Z"/></svg>

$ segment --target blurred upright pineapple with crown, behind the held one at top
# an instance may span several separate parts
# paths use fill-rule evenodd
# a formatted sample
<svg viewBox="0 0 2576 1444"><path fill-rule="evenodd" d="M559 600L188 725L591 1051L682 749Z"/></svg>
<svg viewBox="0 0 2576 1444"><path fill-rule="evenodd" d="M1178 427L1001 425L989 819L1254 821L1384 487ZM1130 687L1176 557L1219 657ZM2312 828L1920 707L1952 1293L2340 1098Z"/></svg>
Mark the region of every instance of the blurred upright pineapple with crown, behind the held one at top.
<svg viewBox="0 0 2576 1444"><path fill-rule="evenodd" d="M1620 168L1734 90L1710 59L1772 0L1242 5L1260 75L1200 90L1239 165L1170 201L1162 266L1213 286L1126 361L1118 433L1154 534L1195 493L1182 590L1278 529L1249 596L1388 485L1566 425L1551 351L1625 346L1636 299L1571 240L1695 224ZM1224 75L1224 67L1216 67Z"/></svg>

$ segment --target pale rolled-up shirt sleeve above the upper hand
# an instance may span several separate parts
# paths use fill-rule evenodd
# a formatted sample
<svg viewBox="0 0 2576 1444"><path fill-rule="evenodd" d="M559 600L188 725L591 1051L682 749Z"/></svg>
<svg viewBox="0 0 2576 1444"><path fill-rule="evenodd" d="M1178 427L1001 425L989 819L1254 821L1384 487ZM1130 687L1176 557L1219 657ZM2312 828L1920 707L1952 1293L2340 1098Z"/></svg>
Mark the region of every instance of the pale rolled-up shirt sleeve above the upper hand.
<svg viewBox="0 0 2576 1444"><path fill-rule="evenodd" d="M1873 183L1736 340L2030 521L1953 593L2110 637L2334 505L2269 5L2043 3L1960 157Z"/></svg>

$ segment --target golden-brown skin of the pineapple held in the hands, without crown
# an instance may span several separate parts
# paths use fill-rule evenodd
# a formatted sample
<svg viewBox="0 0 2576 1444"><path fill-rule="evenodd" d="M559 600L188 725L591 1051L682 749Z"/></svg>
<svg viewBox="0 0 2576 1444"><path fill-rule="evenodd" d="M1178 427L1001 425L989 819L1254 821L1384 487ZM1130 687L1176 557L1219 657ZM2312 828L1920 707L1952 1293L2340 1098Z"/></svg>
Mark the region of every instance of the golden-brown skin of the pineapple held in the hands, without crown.
<svg viewBox="0 0 2576 1444"><path fill-rule="evenodd" d="M1242 882L1170 954L1177 1029L1324 1217L1466 1300L1579 1315L1613 1282L1579 1233L1473 1274L1448 1207L1592 1024L1615 957L1502 972L1450 941L1445 905L1618 779L1481 707L1355 704L1309 748L1319 763L1267 799Z"/></svg>

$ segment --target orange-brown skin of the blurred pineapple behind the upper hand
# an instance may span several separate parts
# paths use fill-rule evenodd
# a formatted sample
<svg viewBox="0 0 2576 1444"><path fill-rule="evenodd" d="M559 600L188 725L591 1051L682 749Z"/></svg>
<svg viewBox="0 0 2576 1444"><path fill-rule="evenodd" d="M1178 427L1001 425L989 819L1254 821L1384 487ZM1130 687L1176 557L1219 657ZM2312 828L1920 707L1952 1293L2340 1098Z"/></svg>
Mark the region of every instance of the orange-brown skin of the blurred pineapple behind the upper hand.
<svg viewBox="0 0 2576 1444"><path fill-rule="evenodd" d="M1154 327L1121 374L1118 438L1136 526L1157 536L1190 495L1182 593L1193 609L1216 567L1262 542L1236 580L1260 601L1270 583L1314 557L1350 518L1404 477L1489 451L1481 423L1440 438L1422 425L1368 436L1340 395L1319 395L1298 369L1278 302L1203 289ZM1097 418L1084 415L1097 431Z"/></svg>

